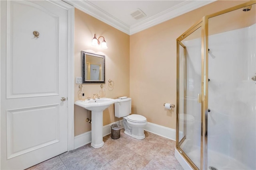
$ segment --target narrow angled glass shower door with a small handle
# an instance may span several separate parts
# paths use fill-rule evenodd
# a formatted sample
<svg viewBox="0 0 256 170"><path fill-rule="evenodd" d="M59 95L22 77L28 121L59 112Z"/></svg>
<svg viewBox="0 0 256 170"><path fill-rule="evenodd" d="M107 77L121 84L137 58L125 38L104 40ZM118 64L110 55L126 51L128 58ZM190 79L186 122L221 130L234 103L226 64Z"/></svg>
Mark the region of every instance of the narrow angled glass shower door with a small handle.
<svg viewBox="0 0 256 170"><path fill-rule="evenodd" d="M179 42L179 143L200 168L201 136L201 27Z"/></svg>

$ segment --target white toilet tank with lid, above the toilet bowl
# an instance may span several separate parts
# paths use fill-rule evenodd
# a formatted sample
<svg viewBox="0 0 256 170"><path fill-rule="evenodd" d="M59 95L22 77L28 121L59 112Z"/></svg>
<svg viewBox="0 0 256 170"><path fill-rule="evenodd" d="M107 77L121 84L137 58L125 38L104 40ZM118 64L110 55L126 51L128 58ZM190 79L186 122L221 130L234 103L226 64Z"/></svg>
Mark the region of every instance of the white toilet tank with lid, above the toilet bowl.
<svg viewBox="0 0 256 170"><path fill-rule="evenodd" d="M132 99L116 99L115 106L115 117L125 117L132 112Z"/></svg>

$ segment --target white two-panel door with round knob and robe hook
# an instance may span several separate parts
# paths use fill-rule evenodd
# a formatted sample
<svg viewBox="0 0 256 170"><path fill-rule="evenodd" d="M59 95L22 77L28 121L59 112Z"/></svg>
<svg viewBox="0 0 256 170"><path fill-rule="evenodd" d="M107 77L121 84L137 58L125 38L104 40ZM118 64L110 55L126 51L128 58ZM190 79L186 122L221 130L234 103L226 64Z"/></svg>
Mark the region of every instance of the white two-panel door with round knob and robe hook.
<svg viewBox="0 0 256 170"><path fill-rule="evenodd" d="M1 0L1 169L67 151L68 11Z"/></svg>

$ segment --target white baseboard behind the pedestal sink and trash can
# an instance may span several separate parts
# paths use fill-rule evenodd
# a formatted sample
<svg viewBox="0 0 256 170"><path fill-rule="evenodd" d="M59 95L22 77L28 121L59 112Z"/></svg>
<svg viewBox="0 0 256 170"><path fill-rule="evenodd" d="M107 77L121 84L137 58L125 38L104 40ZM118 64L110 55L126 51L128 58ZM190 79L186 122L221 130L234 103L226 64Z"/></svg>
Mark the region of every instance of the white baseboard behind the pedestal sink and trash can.
<svg viewBox="0 0 256 170"><path fill-rule="evenodd" d="M114 123L118 123L118 121L116 121ZM102 129L102 136L103 137L106 136L106 135L109 135L111 133L111 127L110 126L114 123L103 126L103 129ZM123 120L120 120L120 125L121 125L121 129L122 129L124 127ZM74 149L82 147L82 146L84 146L88 143L91 143L91 142L92 142L92 131L88 131L86 133L82 133L81 135L77 135L77 136L75 136L75 148Z"/></svg>

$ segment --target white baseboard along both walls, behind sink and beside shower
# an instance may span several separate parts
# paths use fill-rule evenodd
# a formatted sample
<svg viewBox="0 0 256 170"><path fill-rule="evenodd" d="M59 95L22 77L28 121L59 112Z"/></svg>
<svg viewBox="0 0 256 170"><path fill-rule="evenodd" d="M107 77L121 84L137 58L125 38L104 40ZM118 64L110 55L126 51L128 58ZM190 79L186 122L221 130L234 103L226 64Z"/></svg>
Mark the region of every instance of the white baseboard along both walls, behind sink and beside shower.
<svg viewBox="0 0 256 170"><path fill-rule="evenodd" d="M114 123L118 123L118 121L114 122ZM103 126L103 132L102 132L103 137L106 136L106 135L109 135L111 133L111 127L110 126L114 123ZM120 125L121 125L121 128L124 127L123 120L120 120ZM154 133L156 135L165 137L167 139L171 139L173 141L175 141L175 139L176 139L176 130L175 129L171 129L171 128L168 128L168 127L156 125L154 123L148 122L148 124L146 125L144 130L148 131L150 133ZM88 143L91 143L91 142L92 142L92 131L88 131L88 132L83 133L81 135L77 135L77 136L75 136L75 149L77 149L79 147L82 147L82 146L84 146Z"/></svg>

